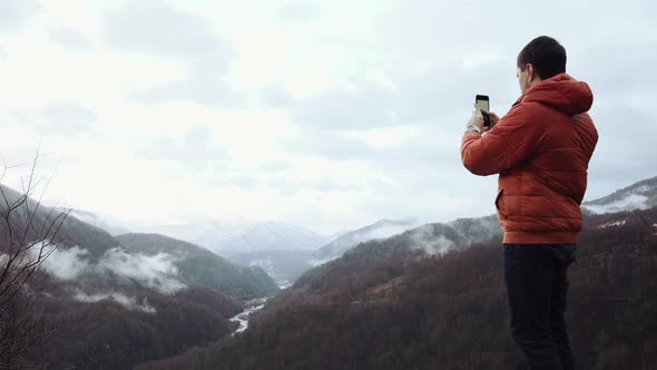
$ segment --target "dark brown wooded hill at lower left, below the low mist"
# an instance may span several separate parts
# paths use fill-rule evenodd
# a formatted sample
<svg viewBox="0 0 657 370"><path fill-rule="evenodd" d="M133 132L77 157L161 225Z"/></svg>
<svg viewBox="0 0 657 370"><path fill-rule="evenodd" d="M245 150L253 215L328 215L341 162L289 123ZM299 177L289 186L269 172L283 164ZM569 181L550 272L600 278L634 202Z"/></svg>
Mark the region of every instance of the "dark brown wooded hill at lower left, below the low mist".
<svg viewBox="0 0 657 370"><path fill-rule="evenodd" d="M23 306L49 334L3 369L133 369L231 335L238 324L229 318L243 310L224 294L194 288L70 294L57 284L37 293Z"/></svg>

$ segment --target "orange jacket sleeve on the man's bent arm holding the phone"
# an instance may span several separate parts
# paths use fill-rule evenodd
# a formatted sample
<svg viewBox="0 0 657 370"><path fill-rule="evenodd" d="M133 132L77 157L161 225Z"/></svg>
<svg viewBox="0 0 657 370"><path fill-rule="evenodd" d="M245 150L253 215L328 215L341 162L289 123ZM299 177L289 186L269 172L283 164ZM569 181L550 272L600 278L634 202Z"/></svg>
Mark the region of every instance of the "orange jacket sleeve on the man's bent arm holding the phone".
<svg viewBox="0 0 657 370"><path fill-rule="evenodd" d="M488 176L533 155L547 133L531 108L531 104L514 107L486 135L467 133L461 144L463 166L474 175Z"/></svg>

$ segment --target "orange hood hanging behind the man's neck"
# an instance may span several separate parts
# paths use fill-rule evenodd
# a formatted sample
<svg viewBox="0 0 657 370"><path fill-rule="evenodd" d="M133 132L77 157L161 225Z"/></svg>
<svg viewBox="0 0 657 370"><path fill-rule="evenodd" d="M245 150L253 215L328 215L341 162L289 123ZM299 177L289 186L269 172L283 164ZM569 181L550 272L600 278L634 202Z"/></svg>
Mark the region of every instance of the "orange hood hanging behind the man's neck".
<svg viewBox="0 0 657 370"><path fill-rule="evenodd" d="M529 101L537 101L573 116L591 108L594 93L587 82L559 74L533 86L518 99L518 103Z"/></svg>

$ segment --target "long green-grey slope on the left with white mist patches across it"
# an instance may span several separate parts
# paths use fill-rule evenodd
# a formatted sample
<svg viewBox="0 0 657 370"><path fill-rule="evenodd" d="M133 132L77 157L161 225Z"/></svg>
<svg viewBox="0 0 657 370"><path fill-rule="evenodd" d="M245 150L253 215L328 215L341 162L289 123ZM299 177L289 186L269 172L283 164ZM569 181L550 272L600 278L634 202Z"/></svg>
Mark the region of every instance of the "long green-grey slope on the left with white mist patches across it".
<svg viewBox="0 0 657 370"><path fill-rule="evenodd" d="M3 186L2 191L9 203L20 198L20 193L11 188ZM14 230L39 230L60 214L60 210L41 206L32 199L26 205L28 207L13 211ZM28 227L28 210L33 213L32 224L37 227ZM0 234L8 234L2 223ZM239 267L207 250L164 236L127 235L114 237L100 227L67 217L53 241L60 245L46 260L43 267L62 284L77 282L85 285L85 294L102 293L105 289L117 286L141 286L163 293L196 286L246 300L277 290L274 281L258 267ZM31 232L27 242L36 237Z"/></svg>

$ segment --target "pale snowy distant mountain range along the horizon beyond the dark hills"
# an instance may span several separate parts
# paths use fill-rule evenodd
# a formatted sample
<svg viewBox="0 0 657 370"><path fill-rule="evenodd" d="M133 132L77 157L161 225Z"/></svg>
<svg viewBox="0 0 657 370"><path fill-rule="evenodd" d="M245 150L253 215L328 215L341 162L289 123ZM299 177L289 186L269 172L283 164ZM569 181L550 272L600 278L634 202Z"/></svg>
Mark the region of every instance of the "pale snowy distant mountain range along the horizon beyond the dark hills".
<svg viewBox="0 0 657 370"><path fill-rule="evenodd" d="M649 178L599 199L582 204L588 214L645 210L657 205L657 177ZM116 220L73 210L71 215L118 235L127 227ZM196 245L243 266L259 266L278 286L293 283L303 272L335 260L360 243L384 240L414 230L414 245L440 253L462 249L486 237L501 234L494 215L462 218L445 224L420 225L416 220L381 220L374 224L327 237L282 222L216 221L189 216L185 223L136 226L143 233L157 233Z"/></svg>

